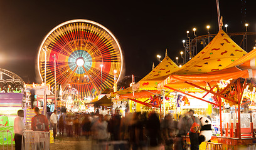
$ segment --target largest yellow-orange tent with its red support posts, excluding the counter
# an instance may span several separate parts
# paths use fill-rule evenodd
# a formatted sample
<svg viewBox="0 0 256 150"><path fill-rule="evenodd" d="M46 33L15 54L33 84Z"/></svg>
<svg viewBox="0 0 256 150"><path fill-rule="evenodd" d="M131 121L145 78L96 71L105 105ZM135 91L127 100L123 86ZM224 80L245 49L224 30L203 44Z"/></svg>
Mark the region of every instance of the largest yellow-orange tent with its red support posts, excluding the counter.
<svg viewBox="0 0 256 150"><path fill-rule="evenodd" d="M223 48L224 46L226 47ZM222 104L221 98L230 103L237 104L239 113L236 137L241 139L240 103L243 98L243 91L247 86L247 79L255 77L256 75L256 70L252 69L253 63L255 63L255 60L253 62L255 51L247 55L245 54L247 53L237 46L237 44L221 30L195 58L191 59L183 68L158 84L158 89L171 89L219 106L220 109ZM250 63L250 65L248 65L248 63ZM243 68L243 70L237 68L237 66ZM250 66L250 68L248 68L248 66ZM218 83L220 83L221 80L230 81L230 83L223 88L218 88ZM231 86L235 88L235 97L231 97L229 94L223 95L228 89L231 89ZM205 91L206 94L202 98L198 98L180 90L191 87L201 89ZM208 87L208 89L206 87ZM218 90L214 91L214 89ZM204 99L209 93L215 96L216 102L210 102ZM222 123L220 123L220 128L221 136L223 136Z"/></svg>

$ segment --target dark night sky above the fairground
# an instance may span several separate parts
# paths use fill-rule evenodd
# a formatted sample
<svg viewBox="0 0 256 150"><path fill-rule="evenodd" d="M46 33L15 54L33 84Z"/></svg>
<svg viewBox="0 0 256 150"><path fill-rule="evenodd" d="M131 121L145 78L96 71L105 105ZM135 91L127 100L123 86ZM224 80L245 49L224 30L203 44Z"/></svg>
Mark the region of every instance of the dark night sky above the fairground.
<svg viewBox="0 0 256 150"><path fill-rule="evenodd" d="M228 32L256 31L256 1L220 0L220 14ZM216 1L0 1L0 68L18 74L26 83L37 83L35 65L43 37L62 22L88 19L107 27L119 40L125 75L143 78L157 63L156 55L175 59L183 50L186 31L194 38L218 32ZM243 21L243 24L242 24ZM225 30L225 27L223 27ZM240 44L242 37L232 37ZM256 36L248 36L248 50ZM201 50L201 49L200 49Z"/></svg>

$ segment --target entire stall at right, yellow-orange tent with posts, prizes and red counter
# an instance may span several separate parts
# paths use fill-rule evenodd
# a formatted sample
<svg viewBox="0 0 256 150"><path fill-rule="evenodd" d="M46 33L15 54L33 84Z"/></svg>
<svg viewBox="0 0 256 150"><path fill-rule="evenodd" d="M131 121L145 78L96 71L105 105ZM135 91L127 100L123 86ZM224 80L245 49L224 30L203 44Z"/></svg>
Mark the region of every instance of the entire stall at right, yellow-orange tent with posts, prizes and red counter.
<svg viewBox="0 0 256 150"><path fill-rule="evenodd" d="M253 83L252 78L256 75L256 71L253 68L242 68L248 61L252 62L254 60L255 64L255 59L245 54L246 52L221 30L195 58L191 59L181 69L176 71L175 74L172 74L162 83L158 84L158 89L173 90L218 107L220 114L220 137L218 137L218 142L227 145L225 146L227 148L230 148L232 144L241 145L255 142L253 123L247 124L250 128L245 124L245 121L242 123L242 120L248 118L248 115L241 114L240 110L243 101L243 91L247 88L248 84ZM249 59L245 59L247 61L238 60L244 58ZM240 63L232 65L236 60ZM195 96L181 90L185 88L197 88L205 91L205 94L203 96ZM205 99L208 94L213 94L215 101ZM237 115L235 115L237 119L234 118L235 121L233 123L229 120L230 125L223 124L221 121L223 119L222 115L227 116L228 119L232 119L232 116L234 116L233 114L221 113L225 110L225 104L237 106L237 109L235 109L237 111ZM225 136L223 133L225 133ZM226 139L230 142L227 142Z"/></svg>

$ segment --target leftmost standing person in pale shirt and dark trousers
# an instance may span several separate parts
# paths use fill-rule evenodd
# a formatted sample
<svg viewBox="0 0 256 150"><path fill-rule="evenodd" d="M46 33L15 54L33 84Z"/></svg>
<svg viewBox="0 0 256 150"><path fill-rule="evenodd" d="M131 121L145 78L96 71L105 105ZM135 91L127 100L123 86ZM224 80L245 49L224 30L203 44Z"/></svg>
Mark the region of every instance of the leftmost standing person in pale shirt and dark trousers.
<svg viewBox="0 0 256 150"><path fill-rule="evenodd" d="M18 111L18 117L14 119L14 141L15 141L15 149L21 150L21 140L22 140L22 134L25 129L25 125L23 122L24 117L24 111L19 110Z"/></svg>

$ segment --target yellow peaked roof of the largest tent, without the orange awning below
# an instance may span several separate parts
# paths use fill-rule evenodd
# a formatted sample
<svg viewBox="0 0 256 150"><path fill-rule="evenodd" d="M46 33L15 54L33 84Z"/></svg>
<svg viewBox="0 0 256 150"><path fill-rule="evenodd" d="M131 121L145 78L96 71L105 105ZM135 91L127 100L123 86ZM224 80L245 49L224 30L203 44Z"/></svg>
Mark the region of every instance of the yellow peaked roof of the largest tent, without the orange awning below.
<svg viewBox="0 0 256 150"><path fill-rule="evenodd" d="M223 30L213 40L184 64L175 74L199 74L220 71L247 54Z"/></svg>

